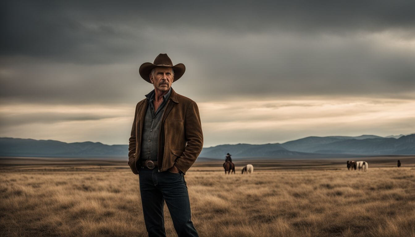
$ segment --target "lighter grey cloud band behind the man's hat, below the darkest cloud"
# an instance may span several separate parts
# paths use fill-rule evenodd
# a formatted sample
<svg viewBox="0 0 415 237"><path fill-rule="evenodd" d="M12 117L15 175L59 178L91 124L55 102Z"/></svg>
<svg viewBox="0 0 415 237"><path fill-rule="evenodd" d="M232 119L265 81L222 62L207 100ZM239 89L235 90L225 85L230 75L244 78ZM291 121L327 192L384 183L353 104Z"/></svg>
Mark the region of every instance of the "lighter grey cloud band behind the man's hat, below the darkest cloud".
<svg viewBox="0 0 415 237"><path fill-rule="evenodd" d="M256 47L244 48L251 39L233 38L215 49L220 39L211 37L199 49L188 44L188 51L183 46L169 52L173 63L183 62L187 68L173 83L178 93L196 101L303 95L399 98L415 88L414 52L387 43L259 36ZM155 56L94 65L5 58L0 60L0 96L4 103L133 104L152 90L139 77L138 67Z"/></svg>

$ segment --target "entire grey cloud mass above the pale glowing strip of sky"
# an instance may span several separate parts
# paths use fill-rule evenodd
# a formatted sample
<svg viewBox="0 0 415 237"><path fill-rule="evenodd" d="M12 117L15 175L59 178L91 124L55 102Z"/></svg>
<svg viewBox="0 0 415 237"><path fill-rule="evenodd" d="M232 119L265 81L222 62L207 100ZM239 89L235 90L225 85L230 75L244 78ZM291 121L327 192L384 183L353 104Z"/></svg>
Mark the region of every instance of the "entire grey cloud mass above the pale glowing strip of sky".
<svg viewBox="0 0 415 237"><path fill-rule="evenodd" d="M167 52L197 101L415 89L413 1L2 1L3 103L134 104ZM405 94L406 93L406 94Z"/></svg>

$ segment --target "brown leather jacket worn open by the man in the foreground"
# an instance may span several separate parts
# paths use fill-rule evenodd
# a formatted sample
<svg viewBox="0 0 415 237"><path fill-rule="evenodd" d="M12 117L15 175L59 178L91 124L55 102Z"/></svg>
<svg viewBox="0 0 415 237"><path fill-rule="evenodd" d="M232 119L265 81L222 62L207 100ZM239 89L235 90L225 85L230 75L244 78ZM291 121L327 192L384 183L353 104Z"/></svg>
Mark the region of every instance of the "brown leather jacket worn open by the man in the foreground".
<svg viewBox="0 0 415 237"><path fill-rule="evenodd" d="M128 164L134 174L138 174L141 168L139 156L144 117L148 105L145 98L135 107L128 144ZM198 105L186 96L177 94L171 88L171 95L165 106L159 131L157 158L159 172L166 171L175 165L180 171L186 173L198 158L203 147Z"/></svg>

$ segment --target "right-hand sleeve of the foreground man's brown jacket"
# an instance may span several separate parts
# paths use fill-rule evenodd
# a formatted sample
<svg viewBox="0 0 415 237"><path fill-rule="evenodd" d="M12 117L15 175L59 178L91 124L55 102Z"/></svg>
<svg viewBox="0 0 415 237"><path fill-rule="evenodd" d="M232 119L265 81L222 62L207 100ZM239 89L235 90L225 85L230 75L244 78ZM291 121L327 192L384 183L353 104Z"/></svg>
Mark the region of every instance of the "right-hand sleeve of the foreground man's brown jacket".
<svg viewBox="0 0 415 237"><path fill-rule="evenodd" d="M203 147L203 132L199 108L194 101L190 103L186 110L184 129L187 145L183 154L176 159L174 165L179 171L186 174L190 166L195 163Z"/></svg>

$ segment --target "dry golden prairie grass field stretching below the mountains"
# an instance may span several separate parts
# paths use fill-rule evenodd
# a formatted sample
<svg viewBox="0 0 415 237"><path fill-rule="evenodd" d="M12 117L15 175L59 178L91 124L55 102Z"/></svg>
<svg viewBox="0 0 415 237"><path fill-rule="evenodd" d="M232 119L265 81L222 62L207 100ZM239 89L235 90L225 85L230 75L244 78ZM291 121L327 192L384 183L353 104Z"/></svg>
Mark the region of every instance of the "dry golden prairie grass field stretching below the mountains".
<svg viewBox="0 0 415 237"><path fill-rule="evenodd" d="M236 174L225 175L222 161L186 173L200 236L415 236L413 162L369 162L368 172L343 161L235 163ZM247 163L254 173L242 175ZM0 173L1 236L147 236L139 178L126 162L19 164ZM176 236L167 206L165 225Z"/></svg>

